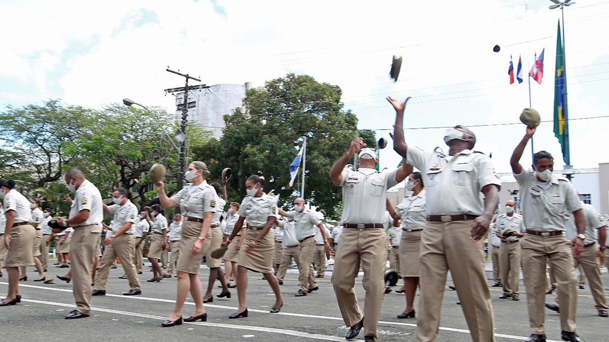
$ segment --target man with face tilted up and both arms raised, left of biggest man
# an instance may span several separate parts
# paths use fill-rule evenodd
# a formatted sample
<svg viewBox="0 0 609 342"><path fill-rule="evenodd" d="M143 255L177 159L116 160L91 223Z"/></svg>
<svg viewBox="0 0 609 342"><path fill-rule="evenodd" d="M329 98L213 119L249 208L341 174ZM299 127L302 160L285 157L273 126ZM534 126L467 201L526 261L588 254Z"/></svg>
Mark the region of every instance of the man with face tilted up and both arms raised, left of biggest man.
<svg viewBox="0 0 609 342"><path fill-rule="evenodd" d="M345 325L350 327L345 338L351 340L364 327L366 341L378 338L377 326L385 284L383 276L387 260L387 235L383 230L387 189L406 178L405 166L395 170L375 170L378 157L361 138L351 141L345 155L334 162L329 176L342 187L343 231L334 257L332 284ZM359 169L348 166L358 154ZM336 228L335 228L336 229ZM353 289L359 267L366 288L364 313L357 305Z"/></svg>

